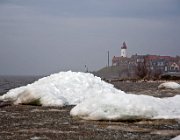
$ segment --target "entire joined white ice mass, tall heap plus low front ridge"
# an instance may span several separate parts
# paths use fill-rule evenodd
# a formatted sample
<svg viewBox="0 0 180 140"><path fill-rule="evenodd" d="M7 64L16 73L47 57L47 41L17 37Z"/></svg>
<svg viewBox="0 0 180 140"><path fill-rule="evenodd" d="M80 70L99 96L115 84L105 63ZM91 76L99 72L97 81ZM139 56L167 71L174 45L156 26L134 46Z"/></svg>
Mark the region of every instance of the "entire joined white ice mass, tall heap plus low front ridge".
<svg viewBox="0 0 180 140"><path fill-rule="evenodd" d="M126 94L89 73L60 72L12 89L0 100L38 100L43 106L77 105L70 114L87 120L180 118L180 96L155 98Z"/></svg>

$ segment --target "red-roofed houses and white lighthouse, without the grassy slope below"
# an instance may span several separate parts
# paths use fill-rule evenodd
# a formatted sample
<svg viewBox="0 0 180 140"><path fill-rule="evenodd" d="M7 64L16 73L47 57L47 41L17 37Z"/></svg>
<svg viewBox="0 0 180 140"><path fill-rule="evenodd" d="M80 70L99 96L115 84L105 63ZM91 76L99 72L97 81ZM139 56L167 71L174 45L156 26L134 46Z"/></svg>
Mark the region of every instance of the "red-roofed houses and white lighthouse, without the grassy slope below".
<svg viewBox="0 0 180 140"><path fill-rule="evenodd" d="M160 56L160 55L132 55L127 57L127 45L123 42L121 56L112 58L112 66L128 67L133 73L138 66L143 66L150 74L180 72L180 56ZM134 72L135 73L135 72Z"/></svg>

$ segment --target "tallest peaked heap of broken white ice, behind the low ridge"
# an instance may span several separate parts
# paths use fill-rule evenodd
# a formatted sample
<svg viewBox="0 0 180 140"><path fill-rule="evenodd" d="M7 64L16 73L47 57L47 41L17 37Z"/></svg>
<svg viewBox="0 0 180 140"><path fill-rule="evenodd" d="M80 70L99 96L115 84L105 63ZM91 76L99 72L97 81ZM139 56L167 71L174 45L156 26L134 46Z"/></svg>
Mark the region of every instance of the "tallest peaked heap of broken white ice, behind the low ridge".
<svg viewBox="0 0 180 140"><path fill-rule="evenodd" d="M119 92L124 93L90 73L68 71L12 89L0 96L0 100L12 101L14 104L39 100L43 106L64 106L76 105L91 96Z"/></svg>

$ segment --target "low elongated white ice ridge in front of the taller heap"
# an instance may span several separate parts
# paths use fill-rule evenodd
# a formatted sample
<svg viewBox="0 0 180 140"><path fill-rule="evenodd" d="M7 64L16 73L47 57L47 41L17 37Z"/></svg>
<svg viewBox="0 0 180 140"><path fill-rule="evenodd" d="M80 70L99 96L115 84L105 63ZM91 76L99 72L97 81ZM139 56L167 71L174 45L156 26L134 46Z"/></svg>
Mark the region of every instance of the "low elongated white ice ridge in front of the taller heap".
<svg viewBox="0 0 180 140"><path fill-rule="evenodd" d="M180 96L155 98L133 94L102 94L75 106L70 114L86 120L180 118Z"/></svg>

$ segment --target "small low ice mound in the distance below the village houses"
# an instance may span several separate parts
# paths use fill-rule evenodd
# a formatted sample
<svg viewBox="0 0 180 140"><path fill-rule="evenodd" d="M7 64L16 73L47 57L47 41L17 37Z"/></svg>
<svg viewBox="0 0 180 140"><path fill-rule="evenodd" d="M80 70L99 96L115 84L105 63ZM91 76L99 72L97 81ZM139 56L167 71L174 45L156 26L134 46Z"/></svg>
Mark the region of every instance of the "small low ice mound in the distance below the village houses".
<svg viewBox="0 0 180 140"><path fill-rule="evenodd" d="M165 82L160 84L158 89L180 89L180 84L176 82Z"/></svg>

